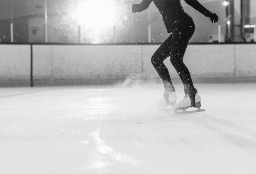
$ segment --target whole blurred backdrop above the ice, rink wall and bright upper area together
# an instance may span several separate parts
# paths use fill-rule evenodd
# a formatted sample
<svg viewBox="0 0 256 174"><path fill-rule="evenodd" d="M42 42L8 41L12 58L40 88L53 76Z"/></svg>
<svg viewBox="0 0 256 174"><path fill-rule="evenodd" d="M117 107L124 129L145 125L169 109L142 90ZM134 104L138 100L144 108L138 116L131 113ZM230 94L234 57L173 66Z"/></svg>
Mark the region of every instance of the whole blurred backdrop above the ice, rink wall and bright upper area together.
<svg viewBox="0 0 256 174"><path fill-rule="evenodd" d="M141 0L0 0L0 86L161 82L150 61L167 33ZM195 33L184 62L193 82L256 82L256 0L181 0ZM165 60L172 81L181 80Z"/></svg>

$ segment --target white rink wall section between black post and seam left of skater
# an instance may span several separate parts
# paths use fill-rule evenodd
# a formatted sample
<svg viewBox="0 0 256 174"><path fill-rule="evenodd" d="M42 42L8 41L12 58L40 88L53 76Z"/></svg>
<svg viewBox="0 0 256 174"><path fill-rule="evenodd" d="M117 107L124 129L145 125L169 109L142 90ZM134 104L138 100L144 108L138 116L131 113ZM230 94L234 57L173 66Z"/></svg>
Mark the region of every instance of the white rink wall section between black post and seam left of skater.
<svg viewBox="0 0 256 174"><path fill-rule="evenodd" d="M141 47L34 45L35 79L109 79L138 73Z"/></svg>

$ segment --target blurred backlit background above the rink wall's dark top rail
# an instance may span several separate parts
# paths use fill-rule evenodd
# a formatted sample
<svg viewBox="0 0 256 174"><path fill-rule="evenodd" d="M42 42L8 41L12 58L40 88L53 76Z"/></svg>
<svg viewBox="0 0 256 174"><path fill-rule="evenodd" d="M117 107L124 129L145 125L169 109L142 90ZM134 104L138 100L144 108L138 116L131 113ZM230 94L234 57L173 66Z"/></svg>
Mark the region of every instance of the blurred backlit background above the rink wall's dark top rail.
<svg viewBox="0 0 256 174"><path fill-rule="evenodd" d="M0 42L162 43L169 34L153 3L141 0L0 0ZM190 42L254 42L255 0L199 0L219 16L216 25L181 0L195 21Z"/></svg>

